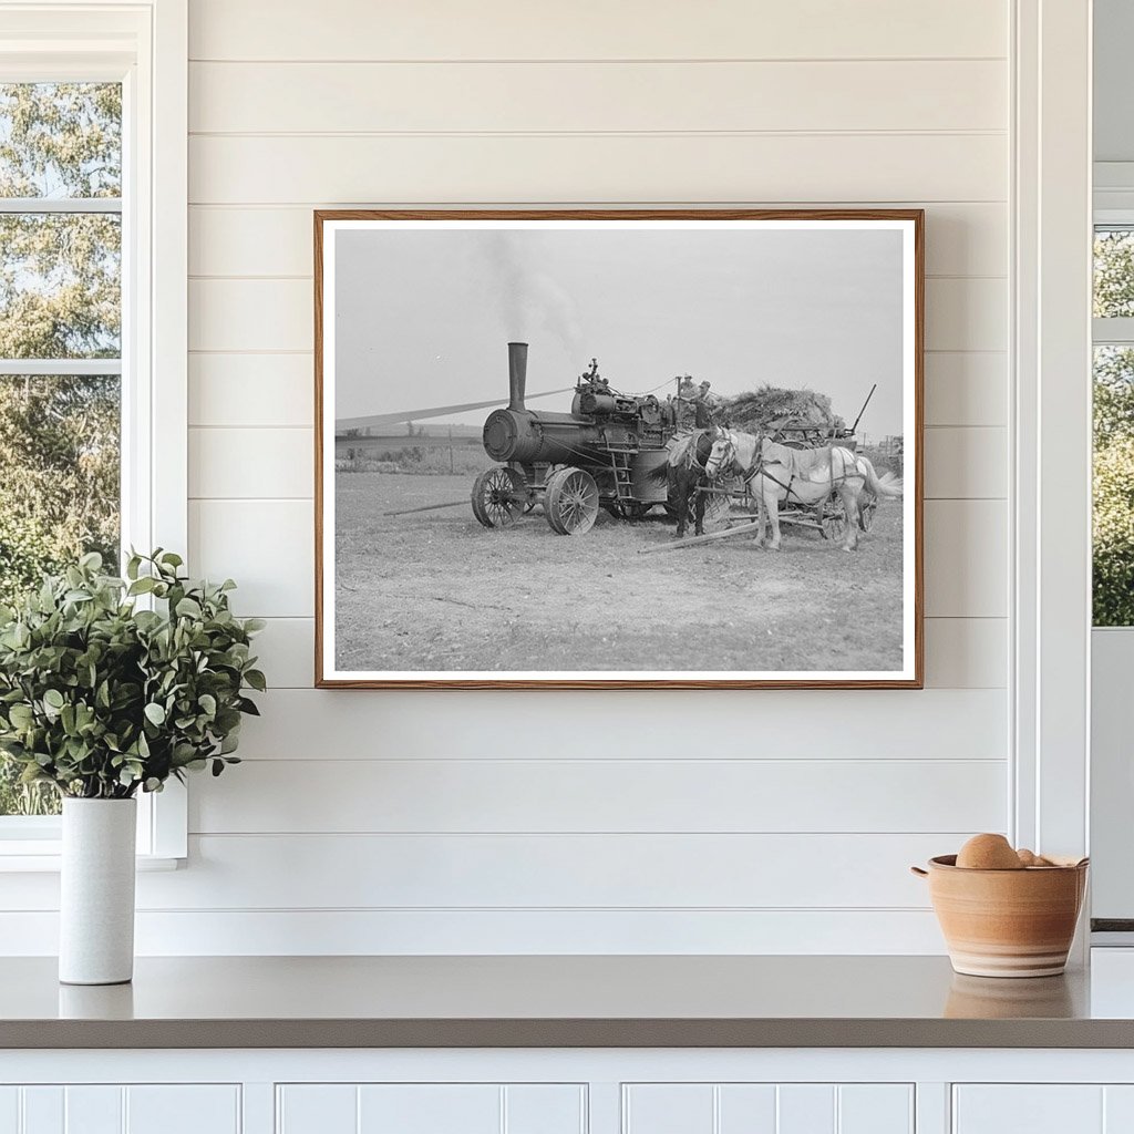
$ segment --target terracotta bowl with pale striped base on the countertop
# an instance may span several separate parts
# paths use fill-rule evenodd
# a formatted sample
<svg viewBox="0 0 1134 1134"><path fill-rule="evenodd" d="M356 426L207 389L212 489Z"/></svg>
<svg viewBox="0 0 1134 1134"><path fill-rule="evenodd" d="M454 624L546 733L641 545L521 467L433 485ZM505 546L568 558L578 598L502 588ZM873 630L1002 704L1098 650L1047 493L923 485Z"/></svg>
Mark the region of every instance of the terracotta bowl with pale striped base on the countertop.
<svg viewBox="0 0 1134 1134"><path fill-rule="evenodd" d="M970 976L1056 976L1067 953L1086 890L1085 858L1027 870L966 870L957 856L930 858L933 912L949 959Z"/></svg>

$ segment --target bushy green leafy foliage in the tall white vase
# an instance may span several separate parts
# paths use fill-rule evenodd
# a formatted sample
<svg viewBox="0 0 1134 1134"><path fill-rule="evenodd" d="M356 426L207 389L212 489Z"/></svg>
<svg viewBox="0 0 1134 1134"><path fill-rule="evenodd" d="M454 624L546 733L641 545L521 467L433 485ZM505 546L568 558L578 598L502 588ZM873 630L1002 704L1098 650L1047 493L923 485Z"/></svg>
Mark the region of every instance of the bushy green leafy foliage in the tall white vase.
<svg viewBox="0 0 1134 1134"><path fill-rule="evenodd" d="M169 776L234 762L259 619L236 618L230 581L189 579L175 552L132 553L126 579L84 556L0 607L0 750L26 781L126 798ZM136 600L166 598L156 610ZM219 753L219 754L218 754Z"/></svg>

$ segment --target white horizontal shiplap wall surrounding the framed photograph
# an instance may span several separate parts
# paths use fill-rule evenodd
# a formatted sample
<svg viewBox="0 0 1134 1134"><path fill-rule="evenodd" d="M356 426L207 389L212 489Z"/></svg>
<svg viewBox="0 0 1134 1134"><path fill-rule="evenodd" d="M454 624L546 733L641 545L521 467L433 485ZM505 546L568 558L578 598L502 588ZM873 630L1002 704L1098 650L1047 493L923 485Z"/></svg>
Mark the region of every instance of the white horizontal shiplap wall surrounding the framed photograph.
<svg viewBox="0 0 1134 1134"><path fill-rule="evenodd" d="M937 951L907 864L1008 813L1007 0L191 20L191 553L273 688L143 951ZM311 688L311 210L616 202L926 208L924 692Z"/></svg>

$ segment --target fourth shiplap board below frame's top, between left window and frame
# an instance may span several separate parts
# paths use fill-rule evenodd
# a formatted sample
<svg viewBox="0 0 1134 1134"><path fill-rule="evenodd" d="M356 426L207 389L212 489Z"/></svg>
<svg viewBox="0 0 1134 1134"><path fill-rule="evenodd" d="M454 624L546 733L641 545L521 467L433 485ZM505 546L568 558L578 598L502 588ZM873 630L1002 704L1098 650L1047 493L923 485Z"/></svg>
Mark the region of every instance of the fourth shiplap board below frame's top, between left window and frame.
<svg viewBox="0 0 1134 1134"><path fill-rule="evenodd" d="M310 426L191 429L189 497L310 500L314 459Z"/></svg>

